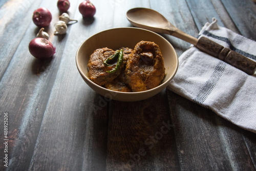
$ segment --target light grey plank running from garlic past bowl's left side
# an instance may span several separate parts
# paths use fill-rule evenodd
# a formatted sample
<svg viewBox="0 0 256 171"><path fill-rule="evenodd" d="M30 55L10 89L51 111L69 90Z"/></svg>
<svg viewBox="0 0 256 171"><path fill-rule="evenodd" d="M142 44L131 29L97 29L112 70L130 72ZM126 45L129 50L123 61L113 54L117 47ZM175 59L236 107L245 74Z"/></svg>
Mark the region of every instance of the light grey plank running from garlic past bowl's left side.
<svg viewBox="0 0 256 171"><path fill-rule="evenodd" d="M108 20L113 15L103 15L108 9L105 3L94 3L98 6L94 20L83 20L78 10L73 15L78 23L70 26L66 35L66 48L37 138L32 170L105 170L109 100L86 85L75 65L81 42L109 27ZM106 23L100 25L101 19Z"/></svg>

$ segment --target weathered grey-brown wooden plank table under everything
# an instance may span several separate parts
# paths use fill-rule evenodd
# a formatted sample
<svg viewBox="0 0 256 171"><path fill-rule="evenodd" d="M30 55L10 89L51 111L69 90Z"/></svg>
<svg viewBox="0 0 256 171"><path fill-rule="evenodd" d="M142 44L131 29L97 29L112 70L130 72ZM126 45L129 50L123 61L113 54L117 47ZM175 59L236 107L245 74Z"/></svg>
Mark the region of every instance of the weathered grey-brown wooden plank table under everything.
<svg viewBox="0 0 256 171"><path fill-rule="evenodd" d="M60 15L56 2L0 2L0 170L256 170L256 134L169 90L138 102L106 101L75 64L76 50L88 37L132 27L125 14L135 7L161 12L192 36L215 17L220 26L256 40L252 0L92 0L93 19L82 19L82 1L70 0L68 12L78 23L66 35L53 35ZM53 16L46 31L56 53L45 61L28 50L39 30L32 22L39 7ZM162 36L178 56L190 46Z"/></svg>

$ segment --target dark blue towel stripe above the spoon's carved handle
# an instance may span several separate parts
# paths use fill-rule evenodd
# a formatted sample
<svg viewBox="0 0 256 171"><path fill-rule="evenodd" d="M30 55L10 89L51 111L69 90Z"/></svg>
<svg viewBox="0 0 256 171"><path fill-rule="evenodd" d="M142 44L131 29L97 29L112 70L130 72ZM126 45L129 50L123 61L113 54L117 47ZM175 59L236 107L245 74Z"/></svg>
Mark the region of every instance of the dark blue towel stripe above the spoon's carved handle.
<svg viewBox="0 0 256 171"><path fill-rule="evenodd" d="M232 51L235 51L235 52L237 52L237 53L240 53L241 55L244 55L244 56L246 56L246 57L248 57L248 58L251 58L251 59L256 60L256 56L255 56L255 55L249 54L249 53L247 53L247 52L244 52L244 51L242 51L242 50L240 50L240 49L235 48L235 47L231 44L230 40L229 40L228 38L226 38L226 37L221 37L221 36L214 35L214 34L208 32L208 31L206 31L206 30L203 32L203 34L206 35L206 36L209 36L209 37L212 37L212 38L215 38L215 39L224 41L224 42L226 42L226 43L229 45L229 48L230 48Z"/></svg>

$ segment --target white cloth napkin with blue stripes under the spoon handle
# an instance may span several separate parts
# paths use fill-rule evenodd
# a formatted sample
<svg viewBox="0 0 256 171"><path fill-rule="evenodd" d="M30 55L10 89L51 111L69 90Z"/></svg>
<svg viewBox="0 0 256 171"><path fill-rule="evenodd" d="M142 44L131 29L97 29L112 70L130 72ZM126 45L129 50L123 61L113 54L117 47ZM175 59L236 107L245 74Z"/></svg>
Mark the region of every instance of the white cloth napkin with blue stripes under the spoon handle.
<svg viewBox="0 0 256 171"><path fill-rule="evenodd" d="M206 23L199 33L248 58L256 59L256 42L217 25ZM256 133L256 77L191 46L179 57L177 74L167 87L230 122Z"/></svg>

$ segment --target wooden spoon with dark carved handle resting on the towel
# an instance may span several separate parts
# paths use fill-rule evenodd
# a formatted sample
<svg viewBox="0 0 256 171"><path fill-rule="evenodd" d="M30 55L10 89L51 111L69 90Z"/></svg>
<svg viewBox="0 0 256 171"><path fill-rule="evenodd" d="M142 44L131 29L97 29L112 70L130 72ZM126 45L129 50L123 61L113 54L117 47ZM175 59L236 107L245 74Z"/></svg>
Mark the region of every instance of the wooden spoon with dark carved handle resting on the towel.
<svg viewBox="0 0 256 171"><path fill-rule="evenodd" d="M182 32L157 11L148 8L133 8L127 11L126 17L135 27L178 37L249 75L253 75L256 71L256 62L253 60L228 48L224 48L206 37L198 39Z"/></svg>

